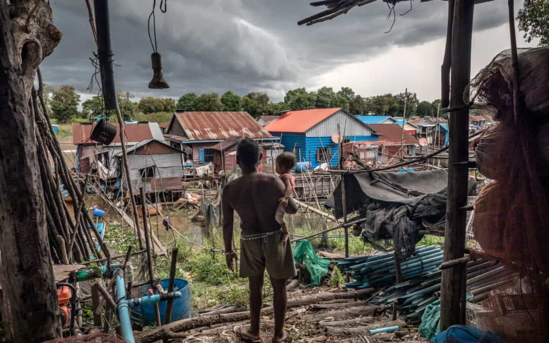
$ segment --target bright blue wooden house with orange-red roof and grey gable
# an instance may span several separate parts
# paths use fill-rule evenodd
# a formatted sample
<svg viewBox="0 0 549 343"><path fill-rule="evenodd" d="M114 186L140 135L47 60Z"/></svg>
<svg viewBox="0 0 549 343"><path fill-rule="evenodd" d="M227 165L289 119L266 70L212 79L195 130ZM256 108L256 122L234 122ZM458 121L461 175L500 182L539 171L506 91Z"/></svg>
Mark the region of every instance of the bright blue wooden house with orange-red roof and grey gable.
<svg viewBox="0 0 549 343"><path fill-rule="evenodd" d="M338 144L332 139L338 124L344 143L378 139L371 127L341 108L289 111L264 128L280 137L284 151L294 153L298 162L315 168L324 162L338 165Z"/></svg>

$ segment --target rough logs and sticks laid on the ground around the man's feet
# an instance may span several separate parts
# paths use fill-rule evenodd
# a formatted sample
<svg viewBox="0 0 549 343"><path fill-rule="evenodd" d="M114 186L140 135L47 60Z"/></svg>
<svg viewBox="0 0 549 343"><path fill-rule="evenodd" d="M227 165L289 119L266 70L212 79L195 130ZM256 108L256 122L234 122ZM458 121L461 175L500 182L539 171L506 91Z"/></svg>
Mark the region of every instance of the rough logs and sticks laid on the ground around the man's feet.
<svg viewBox="0 0 549 343"><path fill-rule="evenodd" d="M417 330L393 319L393 306L368 305L374 290L344 288L305 288L297 280L288 285L288 311L285 330L288 342L425 342ZM249 325L249 311L236 306L215 307L199 313L200 317L179 320L136 334L136 342L153 342L163 338L180 342L239 342L235 327ZM273 336L273 307L266 303L261 310L261 336ZM369 330L398 326L389 333L371 334Z"/></svg>

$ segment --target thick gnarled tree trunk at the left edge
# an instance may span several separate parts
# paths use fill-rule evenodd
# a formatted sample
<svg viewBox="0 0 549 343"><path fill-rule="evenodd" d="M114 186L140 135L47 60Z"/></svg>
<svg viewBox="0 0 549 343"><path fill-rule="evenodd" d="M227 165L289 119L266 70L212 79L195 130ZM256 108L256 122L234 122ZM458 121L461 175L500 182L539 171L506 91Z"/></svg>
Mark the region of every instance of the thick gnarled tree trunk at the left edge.
<svg viewBox="0 0 549 343"><path fill-rule="evenodd" d="M40 21L49 22L48 33L53 36L57 29L52 25L49 3L39 5L46 7L39 9L42 15L49 13L49 18L44 15ZM19 15L25 18L29 14ZM31 25L37 27L31 29L40 32L42 27L35 20L39 19L31 20ZM1 311L3 334L8 341L36 342L58 338L61 328L35 126L27 105L24 70L18 61L21 51L16 47L14 23L7 3L0 1ZM49 43L52 49L57 45ZM25 56L23 59L23 65L29 62Z"/></svg>

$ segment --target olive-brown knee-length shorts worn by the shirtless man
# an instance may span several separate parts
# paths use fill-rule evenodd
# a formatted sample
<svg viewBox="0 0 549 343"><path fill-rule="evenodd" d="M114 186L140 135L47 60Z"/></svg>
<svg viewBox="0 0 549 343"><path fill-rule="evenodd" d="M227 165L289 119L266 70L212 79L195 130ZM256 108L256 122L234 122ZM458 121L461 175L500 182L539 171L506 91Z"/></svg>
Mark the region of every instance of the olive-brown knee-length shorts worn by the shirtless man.
<svg viewBox="0 0 549 343"><path fill-rule="evenodd" d="M280 241L281 234L240 240L240 277L261 275L265 268L273 279L289 279L296 275L292 245L288 239Z"/></svg>

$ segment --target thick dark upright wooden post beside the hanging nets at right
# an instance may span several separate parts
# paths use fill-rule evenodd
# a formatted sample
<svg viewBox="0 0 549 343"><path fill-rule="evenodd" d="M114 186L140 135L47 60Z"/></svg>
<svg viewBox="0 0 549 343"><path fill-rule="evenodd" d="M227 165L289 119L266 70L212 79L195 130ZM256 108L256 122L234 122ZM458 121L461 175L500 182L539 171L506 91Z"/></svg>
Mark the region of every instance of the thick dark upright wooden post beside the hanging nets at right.
<svg viewBox="0 0 549 343"><path fill-rule="evenodd" d="M470 78L473 12L473 0L455 0L450 106L456 110L452 111L449 121L450 148L444 261L463 257L465 249L467 211L460 207L467 205L469 108L463 102L463 91ZM462 268L442 271L441 330L446 330L453 324L464 324L461 316L466 302L462 290L464 277Z"/></svg>

